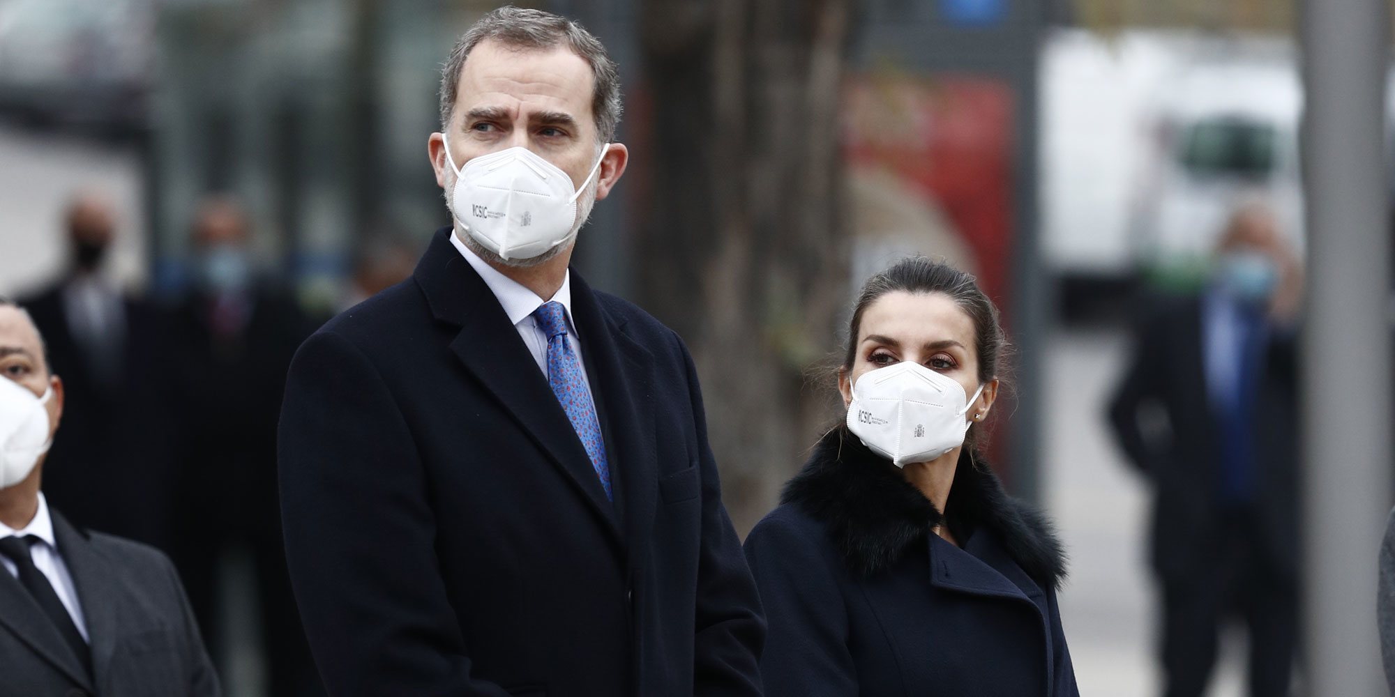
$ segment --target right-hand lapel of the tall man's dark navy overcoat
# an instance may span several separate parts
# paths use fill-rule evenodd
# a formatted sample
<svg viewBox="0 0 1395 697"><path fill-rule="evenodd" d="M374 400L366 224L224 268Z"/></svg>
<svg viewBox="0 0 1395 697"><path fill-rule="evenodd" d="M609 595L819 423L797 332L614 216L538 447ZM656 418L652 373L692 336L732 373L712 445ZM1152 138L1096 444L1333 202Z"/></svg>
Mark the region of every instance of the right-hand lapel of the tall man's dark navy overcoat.
<svg viewBox="0 0 1395 697"><path fill-rule="evenodd" d="M572 308L582 333L597 406L604 404L605 450L622 506L626 539L642 539L654 520L657 446L654 427L654 355L610 318L596 293L572 273ZM643 563L646 545L631 545L631 566Z"/></svg>

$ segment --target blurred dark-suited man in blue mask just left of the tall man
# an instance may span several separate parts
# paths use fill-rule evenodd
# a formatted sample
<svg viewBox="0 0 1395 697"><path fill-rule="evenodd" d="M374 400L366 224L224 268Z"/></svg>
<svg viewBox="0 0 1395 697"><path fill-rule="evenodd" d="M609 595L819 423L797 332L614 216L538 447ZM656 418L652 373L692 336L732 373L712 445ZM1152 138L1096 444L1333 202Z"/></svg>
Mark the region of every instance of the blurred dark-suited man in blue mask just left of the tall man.
<svg viewBox="0 0 1395 697"><path fill-rule="evenodd" d="M167 369L180 406L174 560L215 657L226 661L220 563L230 552L250 556L268 694L307 694L318 679L286 576L276 418L286 368L311 326L258 275L250 220L234 199L198 206L193 254L195 284L160 337L173 353Z"/></svg>

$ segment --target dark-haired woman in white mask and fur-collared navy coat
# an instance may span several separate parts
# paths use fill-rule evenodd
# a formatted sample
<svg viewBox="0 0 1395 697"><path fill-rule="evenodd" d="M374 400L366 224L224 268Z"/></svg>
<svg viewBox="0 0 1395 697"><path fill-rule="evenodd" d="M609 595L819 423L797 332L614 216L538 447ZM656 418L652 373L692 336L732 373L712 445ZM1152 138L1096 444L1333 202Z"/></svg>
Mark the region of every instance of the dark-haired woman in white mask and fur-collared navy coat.
<svg viewBox="0 0 1395 697"><path fill-rule="evenodd" d="M845 424L746 539L766 694L1078 696L1060 544L978 453L997 309L972 276L908 258L868 280L848 337Z"/></svg>

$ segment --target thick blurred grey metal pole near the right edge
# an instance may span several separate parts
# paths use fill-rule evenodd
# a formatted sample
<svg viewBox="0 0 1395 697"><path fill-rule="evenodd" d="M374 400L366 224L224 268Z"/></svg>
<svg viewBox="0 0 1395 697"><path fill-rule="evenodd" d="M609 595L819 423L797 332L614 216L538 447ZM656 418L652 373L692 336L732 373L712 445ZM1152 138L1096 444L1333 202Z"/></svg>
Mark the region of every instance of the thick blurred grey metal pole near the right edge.
<svg viewBox="0 0 1395 697"><path fill-rule="evenodd" d="M1303 337L1310 694L1385 694L1375 558L1391 506L1384 0L1304 0Z"/></svg>

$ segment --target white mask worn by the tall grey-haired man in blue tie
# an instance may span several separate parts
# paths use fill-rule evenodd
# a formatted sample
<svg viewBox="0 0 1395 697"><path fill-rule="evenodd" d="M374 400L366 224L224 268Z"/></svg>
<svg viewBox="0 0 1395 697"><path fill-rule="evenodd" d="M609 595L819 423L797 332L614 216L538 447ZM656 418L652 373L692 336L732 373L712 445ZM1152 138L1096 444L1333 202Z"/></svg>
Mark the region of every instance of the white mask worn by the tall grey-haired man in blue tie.
<svg viewBox="0 0 1395 697"><path fill-rule="evenodd" d="M456 169L451 144L445 160L455 171L451 208L460 227L501 259L541 256L576 236L576 198L591 183L610 144L580 188L572 177L533 151L513 146L481 155Z"/></svg>

